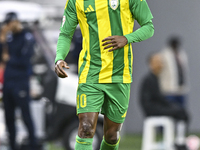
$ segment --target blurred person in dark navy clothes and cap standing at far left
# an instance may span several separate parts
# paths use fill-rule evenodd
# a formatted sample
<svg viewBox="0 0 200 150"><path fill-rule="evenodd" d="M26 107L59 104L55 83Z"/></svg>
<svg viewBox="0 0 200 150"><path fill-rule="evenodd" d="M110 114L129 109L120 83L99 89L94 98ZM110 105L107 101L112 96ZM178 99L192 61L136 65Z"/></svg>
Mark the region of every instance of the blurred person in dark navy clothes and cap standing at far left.
<svg viewBox="0 0 200 150"><path fill-rule="evenodd" d="M0 30L0 52L2 63L6 66L3 103L12 150L18 150L15 127L16 107L21 109L24 123L29 132L30 150L36 148L36 137L29 106L29 77L32 70L30 59L34 43L33 35L23 28L17 14L15 12L7 13Z"/></svg>

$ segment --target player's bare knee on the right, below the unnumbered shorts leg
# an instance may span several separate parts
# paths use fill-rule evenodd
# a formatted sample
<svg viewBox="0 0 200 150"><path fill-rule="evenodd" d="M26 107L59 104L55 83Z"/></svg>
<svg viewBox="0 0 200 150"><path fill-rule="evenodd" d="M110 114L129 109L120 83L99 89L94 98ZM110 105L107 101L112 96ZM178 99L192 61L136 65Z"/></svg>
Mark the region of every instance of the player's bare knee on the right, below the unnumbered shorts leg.
<svg viewBox="0 0 200 150"><path fill-rule="evenodd" d="M119 131L107 131L106 134L104 135L104 138L107 143L109 144L116 144L119 140Z"/></svg>

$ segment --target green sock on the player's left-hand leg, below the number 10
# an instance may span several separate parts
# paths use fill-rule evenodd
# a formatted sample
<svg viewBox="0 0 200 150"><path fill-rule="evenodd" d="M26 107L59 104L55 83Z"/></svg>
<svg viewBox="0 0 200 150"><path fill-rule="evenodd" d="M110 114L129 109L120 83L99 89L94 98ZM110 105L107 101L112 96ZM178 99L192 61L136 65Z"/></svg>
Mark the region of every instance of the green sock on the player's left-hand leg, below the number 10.
<svg viewBox="0 0 200 150"><path fill-rule="evenodd" d="M80 138L76 136L75 150L93 150L92 148L93 138Z"/></svg>

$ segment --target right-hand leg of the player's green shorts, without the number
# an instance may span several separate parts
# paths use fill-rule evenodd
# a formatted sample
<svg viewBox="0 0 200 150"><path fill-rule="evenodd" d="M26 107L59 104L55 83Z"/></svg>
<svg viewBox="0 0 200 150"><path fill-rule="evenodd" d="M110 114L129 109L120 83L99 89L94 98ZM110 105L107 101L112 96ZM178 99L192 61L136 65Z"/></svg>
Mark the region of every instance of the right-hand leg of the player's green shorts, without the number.
<svg viewBox="0 0 200 150"><path fill-rule="evenodd" d="M107 84L102 113L115 123L123 123L129 105L130 84Z"/></svg>

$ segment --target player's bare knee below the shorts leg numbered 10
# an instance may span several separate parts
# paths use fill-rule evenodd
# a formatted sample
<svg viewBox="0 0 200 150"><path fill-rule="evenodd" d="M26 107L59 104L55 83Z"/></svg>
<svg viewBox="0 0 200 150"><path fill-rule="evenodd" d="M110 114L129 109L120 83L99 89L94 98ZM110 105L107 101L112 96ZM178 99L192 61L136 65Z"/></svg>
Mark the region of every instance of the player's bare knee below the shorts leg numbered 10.
<svg viewBox="0 0 200 150"><path fill-rule="evenodd" d="M90 122L81 123L79 131L81 138L92 138L95 133L94 127Z"/></svg>

